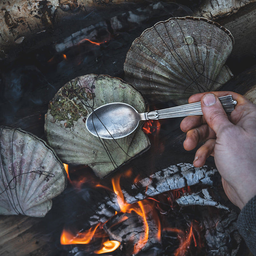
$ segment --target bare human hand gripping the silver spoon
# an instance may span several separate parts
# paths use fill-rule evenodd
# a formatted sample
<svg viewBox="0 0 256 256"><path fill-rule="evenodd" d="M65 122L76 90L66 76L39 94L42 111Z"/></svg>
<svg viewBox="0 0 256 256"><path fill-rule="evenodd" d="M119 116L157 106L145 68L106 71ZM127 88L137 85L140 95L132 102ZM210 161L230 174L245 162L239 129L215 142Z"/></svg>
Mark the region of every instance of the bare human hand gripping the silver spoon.
<svg viewBox="0 0 256 256"><path fill-rule="evenodd" d="M218 97L230 94L237 105L229 116ZM187 132L184 148L192 150L205 141L196 151L194 166L214 156L226 195L242 209L256 195L256 105L235 92L198 93L188 102L200 100L204 116L187 116L180 124Z"/></svg>

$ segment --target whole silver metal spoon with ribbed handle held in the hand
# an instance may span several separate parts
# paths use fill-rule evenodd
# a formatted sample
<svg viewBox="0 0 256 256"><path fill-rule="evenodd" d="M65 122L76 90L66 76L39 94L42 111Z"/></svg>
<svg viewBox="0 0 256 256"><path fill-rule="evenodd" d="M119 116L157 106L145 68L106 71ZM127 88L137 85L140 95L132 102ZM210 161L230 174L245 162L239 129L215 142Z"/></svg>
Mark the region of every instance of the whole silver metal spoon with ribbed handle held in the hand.
<svg viewBox="0 0 256 256"><path fill-rule="evenodd" d="M231 95L220 97L219 100L226 112L232 112L237 104ZM114 102L92 111L85 125L89 132L102 139L119 139L134 132L141 120L195 115L203 115L200 101L149 113L138 113L126 103Z"/></svg>

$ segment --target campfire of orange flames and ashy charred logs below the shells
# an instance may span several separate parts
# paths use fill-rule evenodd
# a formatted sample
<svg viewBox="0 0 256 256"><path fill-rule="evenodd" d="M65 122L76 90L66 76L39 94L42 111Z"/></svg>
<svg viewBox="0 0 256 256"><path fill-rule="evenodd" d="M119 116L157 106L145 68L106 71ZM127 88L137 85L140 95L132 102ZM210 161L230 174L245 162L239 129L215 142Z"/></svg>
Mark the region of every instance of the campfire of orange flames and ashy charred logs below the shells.
<svg viewBox="0 0 256 256"><path fill-rule="evenodd" d="M187 169L187 172L184 172L184 169ZM68 167L66 170L68 171ZM80 247L81 245L79 246L79 244L88 244L90 250L93 250L93 253L122 250L122 255L134 255L138 253L138 255L141 253L143 255L143 252L152 253L153 251L162 255L170 255L170 253L177 256L204 255L207 249L209 250L210 246L212 246L211 243L213 240L217 241L220 237L226 240L227 236L230 237L230 234L235 231L230 221L236 219L237 213L234 211L230 212L230 209L225 206L226 204L221 205L218 202L220 200L219 192L213 192L211 191L212 188L209 187L209 185L216 186L220 182L217 171L215 169L207 170L206 168L197 170L199 173L198 177L202 177L204 174L208 175L208 177L205 177L204 181L202 180L204 185L191 186L188 186L188 183L198 183L195 177L194 180L189 177L193 172L191 165L181 164L180 166L171 166L168 170L164 171L167 172L165 178L158 181L159 185L161 184L162 190L166 190L164 192L160 191L161 188L156 181L157 177L159 177L158 173L150 177L151 183L155 183L153 185L155 187L154 189L152 189L152 184L148 184L147 187L143 188L145 183L148 183L147 178L143 180L138 176L135 177L133 180L135 186L132 185L132 189L130 188L132 191L130 191L129 195L127 192L128 188L124 190L120 184L122 183L122 178L126 181L127 179L131 179L133 172L130 169L126 170L122 175L115 175L111 179L112 188L106 187L105 184L97 183L96 180L90 180L89 183L93 184L94 192L98 190L101 191L98 193L104 193L103 191L105 191L105 193L110 194L106 195L104 193L106 196L103 200L101 199L96 203L94 202L93 205L91 204L93 208L96 204L95 207L97 208L94 211L94 215L87 218L89 219L91 228L87 230L75 230L74 226L65 227L60 237L61 244L76 244L77 247L73 250L84 250L86 252L88 252L88 248ZM77 171L71 169L70 172L72 175L75 175ZM188 183L186 186L180 184L182 188L175 189L179 187L177 183L175 184L175 180L180 180L181 173L184 173L186 176L184 180L188 179ZM80 172L80 174L84 176L84 172ZM166 188L165 183L168 181L163 181L168 179L167 177L169 175L172 177L170 179L173 181L171 186L174 188L171 190ZM216 179L214 183L211 181L213 177ZM86 178L77 177L77 180L86 180ZM87 182L85 181L83 186L88 186L88 184L86 185ZM75 180L70 179L70 183L73 186L77 186L77 190L82 189L80 184ZM207 188L210 188L210 190L207 190ZM152 196L147 196L145 199L138 201L138 197L142 196L138 191L143 189L146 190L147 194ZM198 190L199 192L196 192ZM135 191L137 191L137 194L135 194ZM211 194L215 193L214 200L212 200L213 194L207 198L209 192L206 191L209 191ZM202 196L202 192L204 196ZM191 205L188 209L180 208L180 206L186 205L184 201L187 201L187 205ZM197 208L196 204L209 206L205 207L202 211ZM218 209L212 209L210 205L214 205ZM212 217L212 211L216 214L214 218ZM229 212L228 216L227 212ZM209 219L209 216L212 219ZM228 220L229 218L230 220ZM220 231L224 228L223 221L228 221L228 225L225 224L227 226L225 226L224 233ZM215 228L219 230L217 234L209 233L210 230ZM232 239L234 240L231 242L233 244L231 247L226 247L225 243L223 245L225 244L225 250L230 255L235 255L236 249L233 246L236 243L240 243L238 242L240 241L239 235L235 232ZM218 246L215 249L221 247L220 244ZM211 248L210 251L214 251L214 249ZM210 251L207 253L210 253Z"/></svg>

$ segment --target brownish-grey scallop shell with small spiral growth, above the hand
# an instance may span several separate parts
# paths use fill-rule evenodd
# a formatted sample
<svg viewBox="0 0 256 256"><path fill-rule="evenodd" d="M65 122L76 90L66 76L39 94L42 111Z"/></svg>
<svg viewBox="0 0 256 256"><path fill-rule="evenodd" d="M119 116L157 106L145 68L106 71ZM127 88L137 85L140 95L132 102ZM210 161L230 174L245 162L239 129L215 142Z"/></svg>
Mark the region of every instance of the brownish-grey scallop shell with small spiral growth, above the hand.
<svg viewBox="0 0 256 256"><path fill-rule="evenodd" d="M226 28L205 18L161 21L132 43L124 63L125 80L150 101L216 91L233 76L224 66L233 44Z"/></svg>

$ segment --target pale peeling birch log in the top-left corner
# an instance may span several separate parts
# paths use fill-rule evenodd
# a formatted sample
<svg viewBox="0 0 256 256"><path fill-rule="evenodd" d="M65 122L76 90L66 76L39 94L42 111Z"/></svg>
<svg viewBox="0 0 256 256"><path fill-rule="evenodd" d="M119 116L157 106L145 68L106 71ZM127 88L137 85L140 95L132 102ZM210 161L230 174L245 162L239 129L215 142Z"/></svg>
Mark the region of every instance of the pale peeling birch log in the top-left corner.
<svg viewBox="0 0 256 256"><path fill-rule="evenodd" d="M134 0L131 3L138 3ZM10 0L0 2L0 51L21 44L36 33L52 33L57 23L68 16L84 15L94 10L108 10L111 17L114 8L125 0ZM113 14L112 14L113 13ZM60 25L61 26L61 25Z"/></svg>

